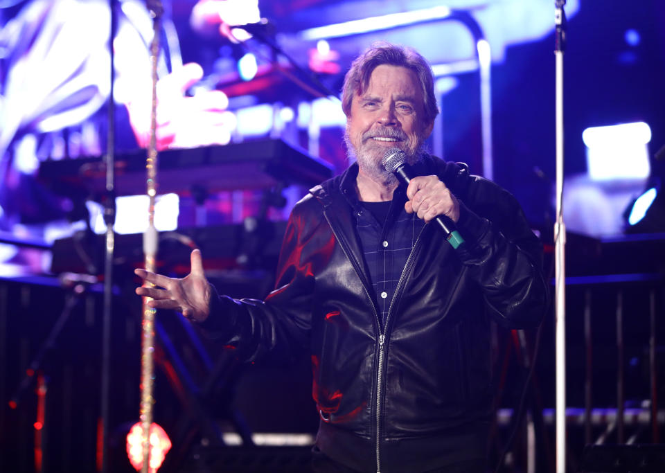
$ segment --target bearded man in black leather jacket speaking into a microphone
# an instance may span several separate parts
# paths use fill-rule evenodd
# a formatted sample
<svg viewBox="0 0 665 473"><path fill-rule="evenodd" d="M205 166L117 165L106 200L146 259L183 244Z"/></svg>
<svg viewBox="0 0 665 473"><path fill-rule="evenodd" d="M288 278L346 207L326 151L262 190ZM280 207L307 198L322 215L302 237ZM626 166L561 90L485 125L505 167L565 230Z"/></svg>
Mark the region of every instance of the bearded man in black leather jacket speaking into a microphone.
<svg viewBox="0 0 665 473"><path fill-rule="evenodd" d="M296 204L265 301L217 296L198 251L184 279L136 270L163 288L136 289L151 307L181 310L243 359L309 347L319 471L484 471L490 318L533 327L547 303L540 244L513 197L423 151L433 82L400 46L353 62L342 104L357 163ZM390 148L419 176L407 188L382 166ZM427 224L436 215L464 245Z"/></svg>

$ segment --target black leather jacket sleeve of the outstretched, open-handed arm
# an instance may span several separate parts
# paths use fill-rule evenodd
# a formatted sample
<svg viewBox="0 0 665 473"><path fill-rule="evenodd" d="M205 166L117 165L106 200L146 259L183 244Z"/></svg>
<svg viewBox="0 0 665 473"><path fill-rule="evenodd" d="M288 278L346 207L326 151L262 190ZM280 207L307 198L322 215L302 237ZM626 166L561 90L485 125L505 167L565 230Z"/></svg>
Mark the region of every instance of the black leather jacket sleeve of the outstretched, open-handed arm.
<svg viewBox="0 0 665 473"><path fill-rule="evenodd" d="M291 359L308 345L314 276L307 262L305 219L291 214L280 251L276 289L265 301L211 291L210 314L200 324L209 337L252 362L270 353Z"/></svg>

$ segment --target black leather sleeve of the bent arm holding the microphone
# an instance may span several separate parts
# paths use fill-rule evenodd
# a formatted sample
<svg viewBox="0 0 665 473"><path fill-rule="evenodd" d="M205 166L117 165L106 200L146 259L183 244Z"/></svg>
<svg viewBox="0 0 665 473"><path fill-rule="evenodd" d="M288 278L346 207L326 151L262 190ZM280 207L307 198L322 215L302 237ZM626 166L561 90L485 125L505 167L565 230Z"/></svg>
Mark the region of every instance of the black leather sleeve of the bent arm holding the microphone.
<svg viewBox="0 0 665 473"><path fill-rule="evenodd" d="M542 244L513 195L479 177L469 184L457 222L466 242L461 262L494 319L508 328L536 326L549 304Z"/></svg>

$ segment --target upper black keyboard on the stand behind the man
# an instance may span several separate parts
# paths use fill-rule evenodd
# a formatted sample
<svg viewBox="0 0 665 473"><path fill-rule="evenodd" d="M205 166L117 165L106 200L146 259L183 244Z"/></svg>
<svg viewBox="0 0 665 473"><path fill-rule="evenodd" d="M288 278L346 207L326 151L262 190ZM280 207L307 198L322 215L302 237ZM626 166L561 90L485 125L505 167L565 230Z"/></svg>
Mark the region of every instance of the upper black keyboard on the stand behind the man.
<svg viewBox="0 0 665 473"><path fill-rule="evenodd" d="M116 195L138 195L145 186L145 151L116 155ZM98 199L106 166L98 157L47 160L39 179L55 193ZM332 167L281 139L159 152L159 193L188 195L194 188L220 190L314 186L332 177Z"/></svg>

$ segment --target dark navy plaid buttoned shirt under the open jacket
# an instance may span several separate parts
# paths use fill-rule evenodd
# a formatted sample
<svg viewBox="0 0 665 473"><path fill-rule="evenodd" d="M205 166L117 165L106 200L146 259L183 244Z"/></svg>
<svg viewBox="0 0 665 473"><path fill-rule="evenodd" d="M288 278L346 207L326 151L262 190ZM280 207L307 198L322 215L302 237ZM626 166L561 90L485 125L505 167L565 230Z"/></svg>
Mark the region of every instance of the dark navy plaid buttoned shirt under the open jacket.
<svg viewBox="0 0 665 473"><path fill-rule="evenodd" d="M362 202L356 200L352 204L356 216L356 231L383 326L407 258L425 226L425 222L416 214L404 210L405 202L405 190L400 186L393 193L385 222L378 222Z"/></svg>

